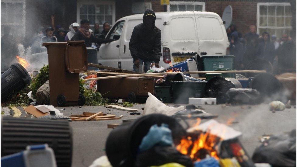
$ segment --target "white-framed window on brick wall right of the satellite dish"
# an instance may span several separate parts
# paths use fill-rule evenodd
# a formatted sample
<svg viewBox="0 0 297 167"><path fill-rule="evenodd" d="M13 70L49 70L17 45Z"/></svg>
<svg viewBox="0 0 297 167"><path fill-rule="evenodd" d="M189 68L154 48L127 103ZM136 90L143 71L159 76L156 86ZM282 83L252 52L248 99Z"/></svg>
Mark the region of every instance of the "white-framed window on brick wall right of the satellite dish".
<svg viewBox="0 0 297 167"><path fill-rule="evenodd" d="M278 38L290 34L292 30L292 13L290 3L258 3L257 32L268 32Z"/></svg>

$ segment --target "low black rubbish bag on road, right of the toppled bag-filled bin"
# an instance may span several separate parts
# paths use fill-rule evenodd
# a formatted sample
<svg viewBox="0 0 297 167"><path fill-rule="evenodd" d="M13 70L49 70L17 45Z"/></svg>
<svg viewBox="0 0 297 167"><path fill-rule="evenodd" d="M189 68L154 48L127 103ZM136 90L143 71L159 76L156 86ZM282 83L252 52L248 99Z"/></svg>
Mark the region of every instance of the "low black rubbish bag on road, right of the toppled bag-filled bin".
<svg viewBox="0 0 297 167"><path fill-rule="evenodd" d="M256 89L231 88L228 92L232 104L259 104L260 92Z"/></svg>

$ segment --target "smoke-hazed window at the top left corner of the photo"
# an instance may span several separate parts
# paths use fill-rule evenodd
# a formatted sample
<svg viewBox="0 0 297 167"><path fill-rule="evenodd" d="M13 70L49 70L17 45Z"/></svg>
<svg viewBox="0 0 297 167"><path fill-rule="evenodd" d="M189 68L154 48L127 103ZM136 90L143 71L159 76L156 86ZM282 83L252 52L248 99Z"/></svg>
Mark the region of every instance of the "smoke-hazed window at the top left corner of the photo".
<svg viewBox="0 0 297 167"><path fill-rule="evenodd" d="M1 0L1 32L5 26L9 26L11 34L25 37L25 7L23 0Z"/></svg>

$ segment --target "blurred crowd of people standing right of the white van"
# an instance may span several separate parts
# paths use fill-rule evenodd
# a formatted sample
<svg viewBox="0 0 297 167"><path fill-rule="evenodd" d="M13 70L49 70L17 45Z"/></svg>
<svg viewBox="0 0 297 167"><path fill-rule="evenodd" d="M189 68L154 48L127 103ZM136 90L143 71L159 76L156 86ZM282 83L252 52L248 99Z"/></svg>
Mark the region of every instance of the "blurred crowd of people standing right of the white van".
<svg viewBox="0 0 297 167"><path fill-rule="evenodd" d="M296 47L288 34L283 34L278 40L268 32L257 34L257 27L250 25L249 32L242 37L235 24L226 31L236 69L243 70L251 61L264 59L271 63L275 73L296 71Z"/></svg>

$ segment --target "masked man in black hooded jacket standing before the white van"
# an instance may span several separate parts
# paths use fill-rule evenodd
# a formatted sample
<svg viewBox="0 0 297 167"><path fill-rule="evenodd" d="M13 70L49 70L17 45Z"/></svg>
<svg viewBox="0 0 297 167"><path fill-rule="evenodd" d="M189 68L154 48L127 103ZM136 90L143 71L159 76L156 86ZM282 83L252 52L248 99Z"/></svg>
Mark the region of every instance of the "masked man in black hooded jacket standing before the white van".
<svg viewBox="0 0 297 167"><path fill-rule="evenodd" d="M151 63L159 67L161 55L161 30L155 26L155 12L146 9L143 15L143 23L134 27L129 49L133 57L133 71L141 71L142 64L145 65L144 72L148 71Z"/></svg>

